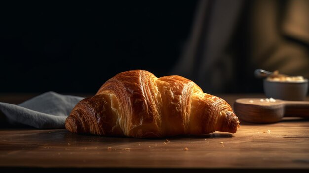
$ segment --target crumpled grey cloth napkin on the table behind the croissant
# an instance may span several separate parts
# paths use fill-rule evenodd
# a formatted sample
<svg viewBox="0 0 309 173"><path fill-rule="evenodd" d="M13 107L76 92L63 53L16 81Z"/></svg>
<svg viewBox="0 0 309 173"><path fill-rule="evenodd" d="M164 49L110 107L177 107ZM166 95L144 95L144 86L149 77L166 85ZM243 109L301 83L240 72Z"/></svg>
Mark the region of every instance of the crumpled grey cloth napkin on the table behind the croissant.
<svg viewBox="0 0 309 173"><path fill-rule="evenodd" d="M0 121L2 125L13 127L64 128L66 118L82 99L83 97L61 95L51 91L18 105L0 102Z"/></svg>

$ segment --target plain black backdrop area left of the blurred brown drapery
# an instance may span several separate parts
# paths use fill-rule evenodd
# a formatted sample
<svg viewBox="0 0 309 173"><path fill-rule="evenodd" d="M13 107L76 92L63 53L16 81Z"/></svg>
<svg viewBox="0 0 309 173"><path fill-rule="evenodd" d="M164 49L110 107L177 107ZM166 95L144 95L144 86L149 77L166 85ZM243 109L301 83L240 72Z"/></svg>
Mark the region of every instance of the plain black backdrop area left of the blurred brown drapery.
<svg viewBox="0 0 309 173"><path fill-rule="evenodd" d="M0 6L0 92L95 93L131 69L166 75L196 0L36 2Z"/></svg>

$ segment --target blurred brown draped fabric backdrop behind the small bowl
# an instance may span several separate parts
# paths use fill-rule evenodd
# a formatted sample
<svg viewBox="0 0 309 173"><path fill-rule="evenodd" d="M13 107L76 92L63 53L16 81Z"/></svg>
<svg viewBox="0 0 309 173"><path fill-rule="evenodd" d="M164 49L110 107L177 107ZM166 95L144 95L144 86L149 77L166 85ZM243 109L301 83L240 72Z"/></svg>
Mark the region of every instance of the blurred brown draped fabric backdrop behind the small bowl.
<svg viewBox="0 0 309 173"><path fill-rule="evenodd" d="M171 73L208 93L263 92L255 69L309 78L309 0L200 0Z"/></svg>

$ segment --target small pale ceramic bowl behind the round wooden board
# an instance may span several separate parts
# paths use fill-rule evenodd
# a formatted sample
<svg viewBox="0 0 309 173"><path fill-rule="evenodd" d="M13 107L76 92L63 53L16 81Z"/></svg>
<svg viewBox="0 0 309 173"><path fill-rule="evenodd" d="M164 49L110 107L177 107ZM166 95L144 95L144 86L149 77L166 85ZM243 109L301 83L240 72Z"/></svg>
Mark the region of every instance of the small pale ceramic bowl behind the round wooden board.
<svg viewBox="0 0 309 173"><path fill-rule="evenodd" d="M263 80L266 97L282 100L305 100L308 92L308 79L302 82L269 81Z"/></svg>

